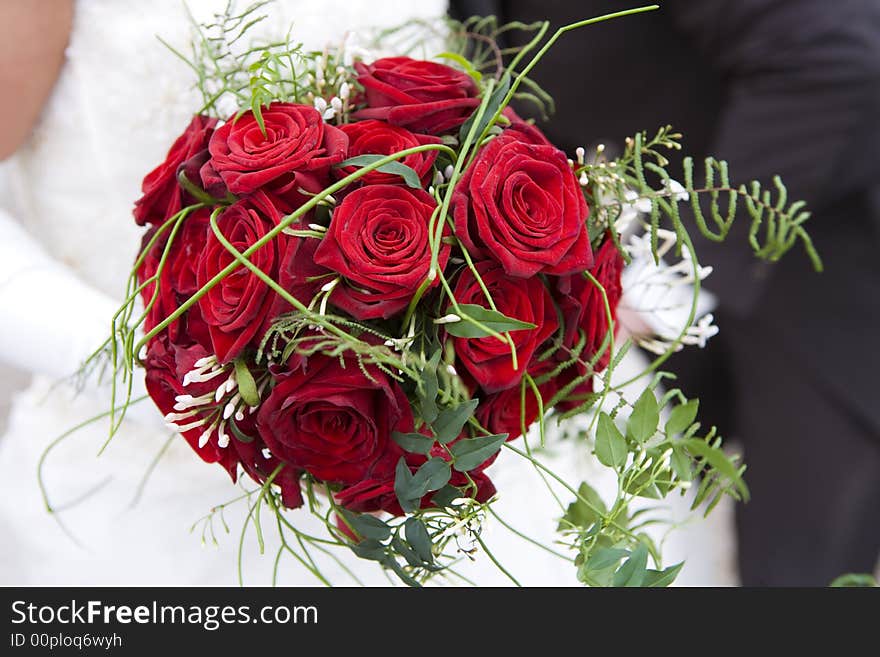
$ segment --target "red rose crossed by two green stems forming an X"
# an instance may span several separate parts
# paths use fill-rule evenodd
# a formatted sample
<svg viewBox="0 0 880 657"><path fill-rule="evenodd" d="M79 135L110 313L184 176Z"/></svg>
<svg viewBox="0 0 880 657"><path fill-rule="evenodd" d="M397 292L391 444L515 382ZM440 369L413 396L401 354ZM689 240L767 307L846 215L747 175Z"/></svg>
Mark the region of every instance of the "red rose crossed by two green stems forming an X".
<svg viewBox="0 0 880 657"><path fill-rule="evenodd" d="M257 192L225 210L218 217L217 226L238 251L244 251L280 220L281 216L270 199ZM250 261L274 280L278 279L279 254L284 251L286 240L286 235L278 235L250 256ZM205 285L234 260L210 231L198 260L197 285ZM220 362L234 359L248 345L259 341L262 337L260 329L269 319L275 296L268 285L240 266L199 299L214 353Z"/></svg>

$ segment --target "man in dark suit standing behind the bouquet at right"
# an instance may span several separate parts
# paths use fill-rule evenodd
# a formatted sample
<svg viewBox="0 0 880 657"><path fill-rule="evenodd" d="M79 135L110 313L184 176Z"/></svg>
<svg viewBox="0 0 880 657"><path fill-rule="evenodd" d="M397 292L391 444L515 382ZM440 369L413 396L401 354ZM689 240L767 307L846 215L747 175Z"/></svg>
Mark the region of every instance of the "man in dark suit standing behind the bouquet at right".
<svg viewBox="0 0 880 657"><path fill-rule="evenodd" d="M555 29L638 4L454 0L452 12ZM740 218L724 245L697 245L715 266L707 287L720 298L721 333L670 367L701 398L704 421L744 444L743 584L821 586L871 572L880 553L880 4L660 4L560 39L532 73L558 110L542 128L567 152L589 152L671 123L697 161L726 159L738 181L780 174L789 198L808 202L825 273L797 249L758 264Z"/></svg>

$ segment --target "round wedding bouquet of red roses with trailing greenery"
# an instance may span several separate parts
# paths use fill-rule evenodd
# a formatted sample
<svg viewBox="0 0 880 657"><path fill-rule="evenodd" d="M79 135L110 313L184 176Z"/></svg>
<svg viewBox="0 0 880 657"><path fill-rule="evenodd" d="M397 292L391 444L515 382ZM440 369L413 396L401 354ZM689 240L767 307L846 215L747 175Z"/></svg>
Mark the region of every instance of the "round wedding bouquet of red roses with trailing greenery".
<svg viewBox="0 0 880 657"><path fill-rule="evenodd" d="M462 533L491 556L479 531L496 494L486 470L527 459L571 493L560 542L581 581L671 582L680 565L662 568L630 503L692 482L695 507L747 495L743 467L714 430L700 434L696 400L659 389L662 362L705 328L707 272L679 205L723 239L744 200L756 252L775 259L797 240L813 253L802 204L787 204L781 183L779 202L757 183L732 186L715 160L702 188L690 160L676 183L661 154L678 148L668 128L636 135L615 160L601 149L569 159L520 118L511 102L548 100L528 78L547 48L609 17L546 42L547 24L513 26L531 38L506 59L494 39L513 28L473 19L424 60L289 39L236 53L251 11L206 26L222 38L203 35L186 57L204 106L135 206L148 228L104 346L121 383L113 429L142 366L196 454L256 482L248 521L261 542L269 508L282 550L294 552L292 532L302 550L351 549L413 585L456 558ZM677 247L684 267L661 273L691 285L692 303L677 334L621 347L621 274L639 245L658 271ZM611 373L633 340L660 355L627 399L629 382ZM618 477L611 505L559 480L526 441L574 416L584 449ZM308 511L327 538L297 531Z"/></svg>

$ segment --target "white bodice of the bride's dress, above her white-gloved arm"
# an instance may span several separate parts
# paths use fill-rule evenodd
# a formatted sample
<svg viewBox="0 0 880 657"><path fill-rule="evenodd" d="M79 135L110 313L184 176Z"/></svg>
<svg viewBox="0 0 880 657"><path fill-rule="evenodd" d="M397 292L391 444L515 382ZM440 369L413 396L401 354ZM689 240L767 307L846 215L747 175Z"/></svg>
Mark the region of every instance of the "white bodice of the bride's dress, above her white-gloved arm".
<svg viewBox="0 0 880 657"><path fill-rule="evenodd" d="M247 2L239 2L246 7ZM226 0L190 0L210 22ZM437 18L444 0L278 0L252 32L306 49L345 32ZM32 138L10 165L19 219L57 259L118 298L143 229L132 219L144 175L159 164L201 104L194 74L163 46L189 52L181 0L79 0L66 62ZM249 32L250 34L250 32Z"/></svg>

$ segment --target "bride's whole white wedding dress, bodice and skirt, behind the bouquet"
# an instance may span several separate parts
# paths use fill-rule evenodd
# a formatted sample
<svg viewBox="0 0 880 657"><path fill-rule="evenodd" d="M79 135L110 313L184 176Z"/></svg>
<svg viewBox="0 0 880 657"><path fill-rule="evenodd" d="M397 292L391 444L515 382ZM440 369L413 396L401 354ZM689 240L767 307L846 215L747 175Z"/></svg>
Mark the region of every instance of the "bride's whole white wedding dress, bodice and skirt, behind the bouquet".
<svg viewBox="0 0 880 657"><path fill-rule="evenodd" d="M204 19L226 0L189 4ZM395 25L411 16L436 17L444 9L439 0L279 0L267 7L272 15L267 23L286 27L292 22L297 40L321 48L347 30ZM85 335L95 336L94 344L64 354L46 353L35 338L22 345L19 362L75 362L109 328L114 303L107 299L121 298L143 232L131 217L140 181L162 160L198 106L191 71L158 42L157 34L186 50L189 26L180 0L79 0L54 93L33 136L6 166L13 198L5 199L4 207L51 259L75 272L81 290L91 290L82 292L89 298L85 306L73 298L31 297L22 303L44 320L47 331L82 334L87 326L92 328ZM14 315L3 321L14 321ZM36 365L32 369L45 371ZM169 438L148 402L100 458L104 422L83 428L48 454L44 481L56 514L46 511L37 483L40 455L64 431L106 411L108 399L106 388L75 396L70 387L41 375L15 395L8 431L0 438L0 585L235 584L245 505L239 502L225 511L229 533L215 520L216 546L210 536L202 545L201 526L192 533L190 527L241 491L221 468L202 463L182 439L171 441L144 482ZM562 441L550 451L552 467L568 481L587 479L600 491L614 489L611 474L595 464L583 442ZM503 454L490 475L499 490L502 517L552 542L558 507L534 470L515 455ZM686 507L687 500L677 501L676 514L682 516ZM679 583L733 582L729 509L713 517L690 523L667 541L668 563L689 559ZM311 533L321 532L305 510L291 513L290 519ZM277 541L268 520L264 555L258 553L253 530L245 539L246 584L271 582ZM571 564L524 543L491 518L484 537L523 583L576 583ZM365 583L388 582L375 564L343 556ZM334 584L354 583L332 561L320 561ZM508 583L485 555L464 562L461 571L481 584ZM290 558L282 563L279 581L318 584Z"/></svg>

